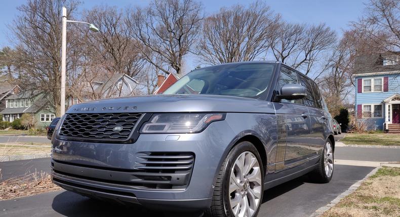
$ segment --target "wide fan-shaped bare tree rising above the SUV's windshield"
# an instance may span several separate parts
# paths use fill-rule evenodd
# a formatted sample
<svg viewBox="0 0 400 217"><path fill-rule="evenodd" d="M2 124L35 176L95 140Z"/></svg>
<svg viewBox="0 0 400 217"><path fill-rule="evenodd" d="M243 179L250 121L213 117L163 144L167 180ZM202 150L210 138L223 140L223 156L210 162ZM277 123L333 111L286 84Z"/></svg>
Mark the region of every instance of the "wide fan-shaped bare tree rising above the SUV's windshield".
<svg viewBox="0 0 400 217"><path fill-rule="evenodd" d="M265 56L268 38L275 32L279 16L263 2L248 8L221 8L206 18L197 50L206 64L252 61Z"/></svg>

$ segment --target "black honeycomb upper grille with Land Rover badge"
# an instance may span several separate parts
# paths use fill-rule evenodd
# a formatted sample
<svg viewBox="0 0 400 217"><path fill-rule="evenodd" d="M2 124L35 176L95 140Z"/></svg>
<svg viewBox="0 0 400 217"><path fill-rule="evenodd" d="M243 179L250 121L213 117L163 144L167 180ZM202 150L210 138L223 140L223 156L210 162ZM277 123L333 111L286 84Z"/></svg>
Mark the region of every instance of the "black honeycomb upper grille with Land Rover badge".
<svg viewBox="0 0 400 217"><path fill-rule="evenodd" d="M141 113L67 114L59 136L95 141L126 141L141 116ZM121 126L122 130L115 132L115 126Z"/></svg>

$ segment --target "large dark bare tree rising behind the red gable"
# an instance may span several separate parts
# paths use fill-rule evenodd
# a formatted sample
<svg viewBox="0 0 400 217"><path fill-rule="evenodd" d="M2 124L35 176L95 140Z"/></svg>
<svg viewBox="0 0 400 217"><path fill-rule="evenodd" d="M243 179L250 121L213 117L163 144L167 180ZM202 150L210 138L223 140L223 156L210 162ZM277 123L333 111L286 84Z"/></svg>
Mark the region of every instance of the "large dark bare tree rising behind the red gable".
<svg viewBox="0 0 400 217"><path fill-rule="evenodd" d="M153 0L126 20L135 34L137 49L146 60L169 74L182 73L183 57L191 52L203 20L202 5L194 0Z"/></svg>

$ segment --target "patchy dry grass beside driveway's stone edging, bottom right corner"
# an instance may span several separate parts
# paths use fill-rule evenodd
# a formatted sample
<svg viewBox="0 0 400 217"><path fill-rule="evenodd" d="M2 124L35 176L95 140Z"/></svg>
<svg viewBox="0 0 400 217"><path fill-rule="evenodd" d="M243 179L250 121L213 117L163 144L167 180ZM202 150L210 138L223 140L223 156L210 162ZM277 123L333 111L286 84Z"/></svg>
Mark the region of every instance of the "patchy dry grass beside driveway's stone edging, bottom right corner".
<svg viewBox="0 0 400 217"><path fill-rule="evenodd" d="M322 216L400 216L400 168L382 167Z"/></svg>

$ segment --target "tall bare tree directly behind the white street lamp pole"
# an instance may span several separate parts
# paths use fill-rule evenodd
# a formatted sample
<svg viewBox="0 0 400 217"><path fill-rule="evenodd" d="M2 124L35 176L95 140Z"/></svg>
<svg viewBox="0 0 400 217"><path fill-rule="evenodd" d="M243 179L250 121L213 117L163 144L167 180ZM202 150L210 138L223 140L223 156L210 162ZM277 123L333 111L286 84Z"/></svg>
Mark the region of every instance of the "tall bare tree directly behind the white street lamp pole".
<svg viewBox="0 0 400 217"><path fill-rule="evenodd" d="M79 2L74 0L29 0L18 7L20 15L13 21L10 31L16 43L15 63L24 74L24 89L49 94L56 115L60 115L61 79L61 10L68 8L69 19L74 15ZM68 29L67 78L76 71L79 56L75 31Z"/></svg>

